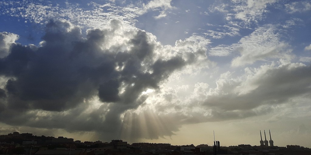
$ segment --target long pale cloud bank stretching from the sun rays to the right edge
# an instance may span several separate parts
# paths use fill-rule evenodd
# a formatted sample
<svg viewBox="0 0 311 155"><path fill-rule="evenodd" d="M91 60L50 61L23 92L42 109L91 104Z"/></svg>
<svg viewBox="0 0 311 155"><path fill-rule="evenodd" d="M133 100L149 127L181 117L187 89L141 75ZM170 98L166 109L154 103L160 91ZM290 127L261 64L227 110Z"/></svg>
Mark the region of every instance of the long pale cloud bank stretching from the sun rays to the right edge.
<svg viewBox="0 0 311 155"><path fill-rule="evenodd" d="M310 99L310 69L310 66L281 59L258 68L245 68L244 74L236 78L225 72L216 80L215 88L202 82L193 89L188 85L161 86L147 99L152 104L124 114L124 117L131 116L124 122L125 126L130 127L132 123L137 126L126 128L123 134L131 137L143 132L152 135L151 138L163 137L174 134L170 131L178 131L183 124L261 116L273 113L276 105L299 104L298 100ZM163 134L147 133L151 131Z"/></svg>

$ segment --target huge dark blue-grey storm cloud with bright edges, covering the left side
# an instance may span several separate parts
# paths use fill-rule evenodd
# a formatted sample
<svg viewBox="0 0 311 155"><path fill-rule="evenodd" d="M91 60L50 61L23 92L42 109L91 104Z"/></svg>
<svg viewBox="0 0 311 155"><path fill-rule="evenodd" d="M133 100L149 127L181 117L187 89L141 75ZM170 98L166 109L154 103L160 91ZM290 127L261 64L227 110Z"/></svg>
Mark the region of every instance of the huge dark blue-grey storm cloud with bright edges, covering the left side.
<svg viewBox="0 0 311 155"><path fill-rule="evenodd" d="M0 89L4 98L1 121L67 131L120 133L120 115L145 103L143 91L158 89L171 73L194 62L181 55L156 59L156 42L146 32L122 31L122 24L113 20L111 29L89 30L83 38L81 29L51 20L46 24L42 46L12 44L9 54L0 59L0 75L9 78ZM107 48L120 35L117 32L128 38ZM94 96L102 103L92 109L89 100ZM91 111L86 112L88 108ZM172 134L170 129L165 132Z"/></svg>

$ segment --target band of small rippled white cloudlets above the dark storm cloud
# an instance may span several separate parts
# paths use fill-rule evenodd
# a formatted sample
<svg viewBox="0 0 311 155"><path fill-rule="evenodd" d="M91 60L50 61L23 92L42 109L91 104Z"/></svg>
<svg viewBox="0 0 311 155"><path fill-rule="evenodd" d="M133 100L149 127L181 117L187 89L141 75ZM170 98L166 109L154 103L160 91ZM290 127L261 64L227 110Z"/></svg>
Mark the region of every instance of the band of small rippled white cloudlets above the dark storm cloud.
<svg viewBox="0 0 311 155"><path fill-rule="evenodd" d="M52 4L49 1L7 1L0 2L1 14L14 17L21 17L30 22L35 22L44 26L49 19L68 20L73 24L83 28L109 28L109 21L112 19L123 20L124 28L136 29L133 24L135 18L149 11L159 12L156 19L165 17L167 10L174 9L170 5L170 0L153 0L148 3L128 4L124 7L117 6L114 2L99 4L89 2L91 8L84 9L78 3L64 2ZM19 7L16 7L19 6Z"/></svg>

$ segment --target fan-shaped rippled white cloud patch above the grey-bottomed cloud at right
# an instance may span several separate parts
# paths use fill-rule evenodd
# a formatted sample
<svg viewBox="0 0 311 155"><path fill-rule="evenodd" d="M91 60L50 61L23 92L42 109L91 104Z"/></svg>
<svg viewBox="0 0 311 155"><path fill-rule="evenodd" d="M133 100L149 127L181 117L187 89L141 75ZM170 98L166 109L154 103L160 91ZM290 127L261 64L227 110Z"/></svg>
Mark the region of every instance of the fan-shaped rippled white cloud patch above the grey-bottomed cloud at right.
<svg viewBox="0 0 311 155"><path fill-rule="evenodd" d="M232 60L234 67L253 64L257 60L282 58L291 60L293 55L288 44L280 41L281 35L274 25L265 25L256 29L249 36L243 37L237 50L241 56Z"/></svg>

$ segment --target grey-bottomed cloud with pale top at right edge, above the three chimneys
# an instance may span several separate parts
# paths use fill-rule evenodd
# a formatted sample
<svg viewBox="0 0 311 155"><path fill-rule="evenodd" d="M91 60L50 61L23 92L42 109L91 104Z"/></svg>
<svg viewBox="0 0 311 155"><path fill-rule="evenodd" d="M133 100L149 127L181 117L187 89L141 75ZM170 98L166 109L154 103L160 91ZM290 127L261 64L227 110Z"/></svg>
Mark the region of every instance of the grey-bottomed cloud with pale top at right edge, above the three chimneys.
<svg viewBox="0 0 311 155"><path fill-rule="evenodd" d="M245 68L245 74L231 78L226 74L210 89L204 106L212 109L218 120L262 115L273 104L291 103L291 98L309 98L310 66L280 60L279 65ZM307 74L307 75L306 75ZM229 117L230 116L230 117Z"/></svg>

